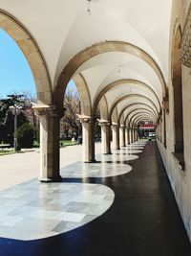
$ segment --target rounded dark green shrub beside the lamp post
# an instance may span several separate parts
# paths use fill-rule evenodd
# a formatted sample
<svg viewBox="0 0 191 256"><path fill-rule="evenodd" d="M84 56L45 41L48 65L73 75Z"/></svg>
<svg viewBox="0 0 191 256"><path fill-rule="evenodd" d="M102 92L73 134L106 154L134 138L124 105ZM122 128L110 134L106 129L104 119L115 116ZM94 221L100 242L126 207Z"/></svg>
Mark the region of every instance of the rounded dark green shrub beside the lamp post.
<svg viewBox="0 0 191 256"><path fill-rule="evenodd" d="M23 124L17 130L17 143L20 148L32 148L33 128L29 123Z"/></svg>

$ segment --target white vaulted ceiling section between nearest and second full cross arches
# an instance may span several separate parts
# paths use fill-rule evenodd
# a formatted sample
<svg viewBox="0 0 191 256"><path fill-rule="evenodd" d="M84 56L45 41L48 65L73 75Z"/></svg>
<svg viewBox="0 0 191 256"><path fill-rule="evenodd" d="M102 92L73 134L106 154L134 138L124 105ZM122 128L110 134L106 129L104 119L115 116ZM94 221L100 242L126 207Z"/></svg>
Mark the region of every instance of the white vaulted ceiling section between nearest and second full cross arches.
<svg viewBox="0 0 191 256"><path fill-rule="evenodd" d="M105 53L81 65L81 72L88 83L92 101L106 85L117 80L132 79L148 84L162 102L162 90L155 71L144 60L127 53ZM96 75L95 75L96 74Z"/></svg>

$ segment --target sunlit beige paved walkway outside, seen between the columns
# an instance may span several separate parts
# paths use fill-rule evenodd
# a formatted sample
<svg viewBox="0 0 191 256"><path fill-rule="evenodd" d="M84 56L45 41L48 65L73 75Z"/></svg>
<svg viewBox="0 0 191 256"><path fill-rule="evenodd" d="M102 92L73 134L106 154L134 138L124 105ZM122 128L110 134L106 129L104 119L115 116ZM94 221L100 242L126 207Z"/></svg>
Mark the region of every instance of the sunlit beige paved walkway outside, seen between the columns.
<svg viewBox="0 0 191 256"><path fill-rule="evenodd" d="M101 151L96 143L96 153ZM60 167L82 159L82 146L69 146L60 149ZM0 191L28 181L39 175L39 149L28 152L0 155Z"/></svg>

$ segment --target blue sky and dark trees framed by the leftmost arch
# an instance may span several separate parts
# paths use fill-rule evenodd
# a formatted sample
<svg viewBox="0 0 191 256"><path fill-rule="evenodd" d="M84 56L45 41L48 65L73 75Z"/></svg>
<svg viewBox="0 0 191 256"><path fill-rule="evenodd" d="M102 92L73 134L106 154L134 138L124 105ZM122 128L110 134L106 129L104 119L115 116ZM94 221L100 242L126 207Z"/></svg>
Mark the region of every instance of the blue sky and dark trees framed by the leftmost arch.
<svg viewBox="0 0 191 256"><path fill-rule="evenodd" d="M0 143L8 145L8 152L12 151L10 147L16 152L32 148L38 133L38 120L30 103L36 99L35 84L27 59L2 29L0 41Z"/></svg>

